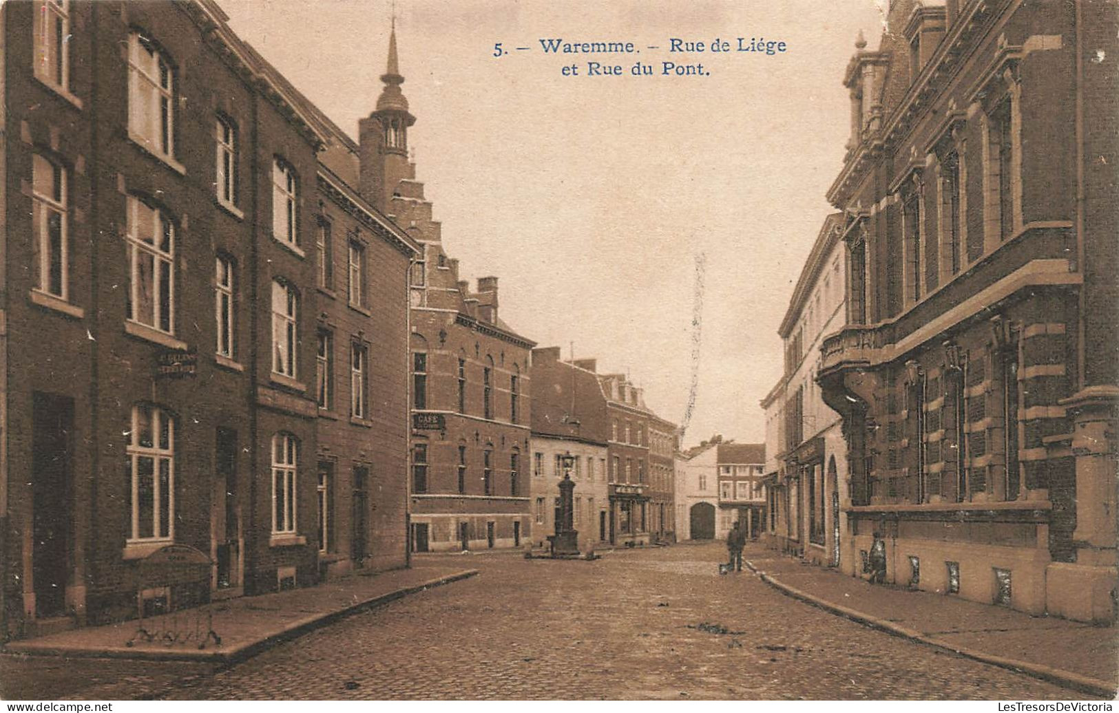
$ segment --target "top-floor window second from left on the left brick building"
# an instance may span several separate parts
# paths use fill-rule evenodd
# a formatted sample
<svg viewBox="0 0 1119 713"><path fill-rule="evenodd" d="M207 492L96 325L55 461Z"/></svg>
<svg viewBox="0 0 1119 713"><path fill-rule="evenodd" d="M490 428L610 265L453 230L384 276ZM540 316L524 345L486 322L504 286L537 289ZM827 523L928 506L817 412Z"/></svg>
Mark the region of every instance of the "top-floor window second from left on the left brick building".
<svg viewBox="0 0 1119 713"><path fill-rule="evenodd" d="M175 73L139 32L129 39L129 134L156 155L175 154Z"/></svg>

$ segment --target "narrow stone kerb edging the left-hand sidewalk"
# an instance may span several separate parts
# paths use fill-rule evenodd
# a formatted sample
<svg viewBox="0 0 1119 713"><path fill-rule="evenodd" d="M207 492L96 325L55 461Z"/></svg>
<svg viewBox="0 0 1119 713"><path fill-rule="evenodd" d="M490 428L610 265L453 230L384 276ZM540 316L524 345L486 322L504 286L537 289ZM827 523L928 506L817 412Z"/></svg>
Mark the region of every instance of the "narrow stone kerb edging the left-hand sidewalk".
<svg viewBox="0 0 1119 713"><path fill-rule="evenodd" d="M262 654L263 652L282 644L283 641L289 641L291 639L298 638L313 631L314 629L322 628L340 619L360 614L368 609L375 609L377 607L387 605L397 599L407 597L408 595L414 595L434 587L441 587L443 584L450 584L451 582L457 582L459 580L468 579L478 574L478 570L462 570L460 572L454 572L451 574L445 574L425 582L420 582L419 584L413 584L411 587L402 587L399 589L394 589L392 591L385 592L383 595L377 595L369 599L364 599L361 601L351 603L349 606L342 607L340 609L335 609L332 611L320 611L316 612L309 617L292 621L284 626L278 631L269 633L266 636L245 641L238 646L227 648L224 650L190 650L190 649L145 649L145 648L125 648L125 647L113 647L113 648L22 648L17 646L6 647L4 653L20 654L27 656L64 656L64 657L82 657L82 658L131 658L139 660L179 660L179 662L195 662L199 664L217 664L218 666L232 666L233 664L238 664L253 656Z"/></svg>

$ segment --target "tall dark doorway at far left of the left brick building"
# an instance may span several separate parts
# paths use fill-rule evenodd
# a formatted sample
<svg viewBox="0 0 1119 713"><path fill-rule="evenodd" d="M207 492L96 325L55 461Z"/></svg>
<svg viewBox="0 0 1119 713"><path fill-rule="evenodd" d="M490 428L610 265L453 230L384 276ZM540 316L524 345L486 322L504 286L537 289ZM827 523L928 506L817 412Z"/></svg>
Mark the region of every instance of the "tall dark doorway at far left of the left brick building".
<svg viewBox="0 0 1119 713"><path fill-rule="evenodd" d="M31 581L35 615L66 612L74 399L36 392L31 425Z"/></svg>

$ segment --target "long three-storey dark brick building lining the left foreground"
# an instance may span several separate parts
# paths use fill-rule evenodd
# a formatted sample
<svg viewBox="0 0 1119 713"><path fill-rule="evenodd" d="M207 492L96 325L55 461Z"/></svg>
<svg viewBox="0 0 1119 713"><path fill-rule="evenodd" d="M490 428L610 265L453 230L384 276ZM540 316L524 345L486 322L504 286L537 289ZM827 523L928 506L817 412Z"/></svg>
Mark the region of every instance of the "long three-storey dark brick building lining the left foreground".
<svg viewBox="0 0 1119 713"><path fill-rule="evenodd" d="M417 246L320 163L341 132L226 19L208 0L0 8L10 635L318 581L348 517L319 522L346 498L323 496L316 454L365 464L368 526L403 527ZM354 320L316 289L311 249L322 220L357 227L344 196L377 259L359 276L376 307ZM359 436L316 406L323 324L377 334ZM363 536L372 565L405 564L402 536ZM171 544L210 564L142 574Z"/></svg>

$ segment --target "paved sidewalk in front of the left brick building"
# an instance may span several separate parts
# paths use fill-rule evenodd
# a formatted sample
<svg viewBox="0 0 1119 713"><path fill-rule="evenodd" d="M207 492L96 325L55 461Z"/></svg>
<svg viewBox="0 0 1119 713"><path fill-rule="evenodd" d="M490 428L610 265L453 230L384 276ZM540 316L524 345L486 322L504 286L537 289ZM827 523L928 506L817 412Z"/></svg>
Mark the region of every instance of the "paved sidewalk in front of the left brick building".
<svg viewBox="0 0 1119 713"><path fill-rule="evenodd" d="M134 638L139 625L139 620L132 619L10 641L3 653L228 665L351 614L477 573L478 570L459 564L421 562L406 570L355 574L317 587L216 601L210 606L213 630L222 641L215 645L209 640L203 648L197 638L175 644L140 638L130 646L128 643ZM205 636L205 608L198 608L179 612L177 620L172 619L175 615L153 617L144 620L144 628L149 631L170 628L184 635L198 631ZM198 629L199 626L203 628Z"/></svg>

